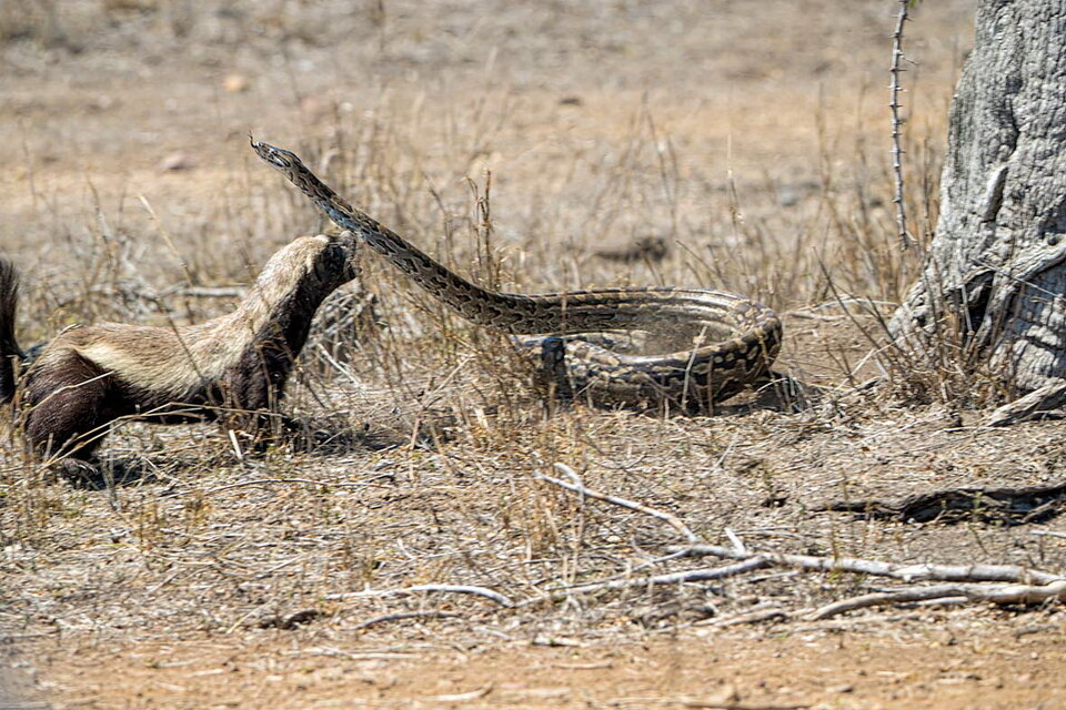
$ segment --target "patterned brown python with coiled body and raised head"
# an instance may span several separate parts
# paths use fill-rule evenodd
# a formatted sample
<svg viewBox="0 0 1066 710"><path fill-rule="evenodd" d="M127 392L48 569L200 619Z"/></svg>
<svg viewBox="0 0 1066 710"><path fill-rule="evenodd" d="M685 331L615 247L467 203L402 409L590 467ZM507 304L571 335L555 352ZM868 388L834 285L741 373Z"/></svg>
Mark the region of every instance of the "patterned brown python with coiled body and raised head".
<svg viewBox="0 0 1066 710"><path fill-rule="evenodd" d="M295 154L251 141L330 220L350 230L396 268L463 317L513 336L533 354L537 382L562 396L596 403L701 409L764 381L781 348L777 315L722 291L637 286L564 293L487 291L447 270L395 232L352 207ZM627 355L573 337L575 333L664 325L727 329L732 337L665 355Z"/></svg>

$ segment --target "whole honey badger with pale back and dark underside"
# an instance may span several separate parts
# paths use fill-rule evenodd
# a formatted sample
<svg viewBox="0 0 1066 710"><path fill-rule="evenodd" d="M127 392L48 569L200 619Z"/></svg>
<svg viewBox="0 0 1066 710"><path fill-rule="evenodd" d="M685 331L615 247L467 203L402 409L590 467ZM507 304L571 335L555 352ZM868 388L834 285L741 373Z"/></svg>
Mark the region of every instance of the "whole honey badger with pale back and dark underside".
<svg viewBox="0 0 1066 710"><path fill-rule="evenodd" d="M64 331L28 363L19 404L42 456L77 470L118 417L159 424L278 404L323 298L355 277L355 239L302 236L274 254L238 308L175 328L101 323ZM18 272L0 260L0 404L14 396ZM257 416L259 413L259 416Z"/></svg>

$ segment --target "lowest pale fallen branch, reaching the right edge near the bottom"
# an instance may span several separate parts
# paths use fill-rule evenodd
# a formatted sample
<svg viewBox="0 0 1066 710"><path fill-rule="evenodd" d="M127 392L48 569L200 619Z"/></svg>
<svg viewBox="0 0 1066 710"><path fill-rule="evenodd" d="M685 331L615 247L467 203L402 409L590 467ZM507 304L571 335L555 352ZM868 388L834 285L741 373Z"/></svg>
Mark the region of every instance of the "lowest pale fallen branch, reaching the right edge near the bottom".
<svg viewBox="0 0 1066 710"><path fill-rule="evenodd" d="M971 601L987 601L999 605L1035 605L1050 600L1062 601L1066 600L1066 579L1059 579L1042 586L936 585L934 587L912 587L898 591L881 591L825 605L813 611L807 619L816 621L844 613L845 611L888 604L905 604L908 601L926 601L931 599L949 599L954 602L958 597L965 597Z"/></svg>

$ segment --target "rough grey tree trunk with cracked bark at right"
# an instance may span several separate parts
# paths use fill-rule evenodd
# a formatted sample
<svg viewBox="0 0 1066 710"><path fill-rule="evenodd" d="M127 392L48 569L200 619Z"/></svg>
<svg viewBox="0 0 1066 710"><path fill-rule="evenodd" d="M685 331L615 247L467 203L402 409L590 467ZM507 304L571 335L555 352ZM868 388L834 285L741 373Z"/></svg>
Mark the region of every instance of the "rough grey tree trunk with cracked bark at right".
<svg viewBox="0 0 1066 710"><path fill-rule="evenodd" d="M952 316L1017 394L1066 377L1066 2L978 0L976 29L936 236L892 328Z"/></svg>

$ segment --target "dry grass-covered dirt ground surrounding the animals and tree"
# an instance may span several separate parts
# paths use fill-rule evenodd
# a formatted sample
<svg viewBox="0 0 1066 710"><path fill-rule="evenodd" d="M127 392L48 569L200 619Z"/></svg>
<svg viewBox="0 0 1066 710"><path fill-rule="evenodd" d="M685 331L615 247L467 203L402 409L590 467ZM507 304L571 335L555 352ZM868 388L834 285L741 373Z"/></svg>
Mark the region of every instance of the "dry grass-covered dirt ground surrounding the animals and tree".
<svg viewBox="0 0 1066 710"><path fill-rule="evenodd" d="M992 399L967 393L994 374L967 389L869 356L877 318L851 300L891 313L918 264L897 248L887 169L895 6L0 3L0 248L26 273L26 343L79 322L203 321L323 229L255 161L252 132L482 281L757 296L785 314L781 367L825 388L707 417L547 406L504 341L368 254L284 405L313 446L123 424L107 489L49 480L4 429L0 706L1066 704L1057 606L815 620L906 582L787 566L574 589L728 560L672 557L668 525L535 478L565 464L711 544L1063 568L1055 497L818 510L1049 486L1066 466L1057 423L983 425ZM926 2L908 27L923 239L972 13ZM597 255L646 237L665 258ZM353 596L366 590L400 591Z"/></svg>

